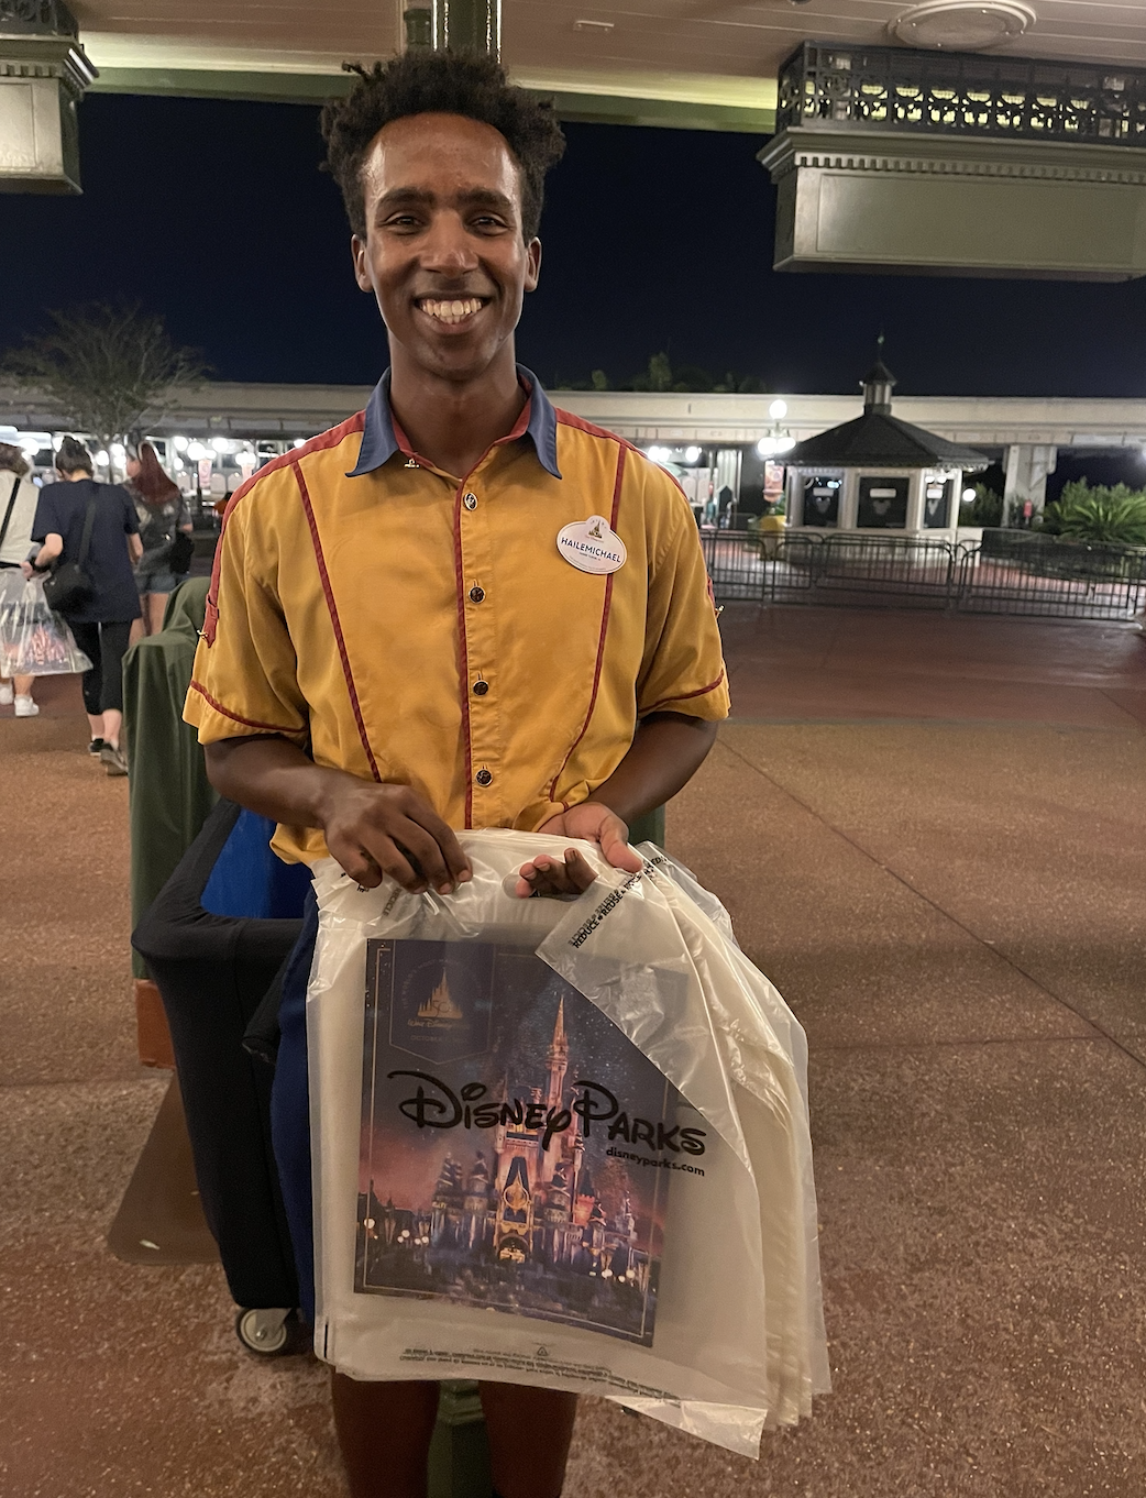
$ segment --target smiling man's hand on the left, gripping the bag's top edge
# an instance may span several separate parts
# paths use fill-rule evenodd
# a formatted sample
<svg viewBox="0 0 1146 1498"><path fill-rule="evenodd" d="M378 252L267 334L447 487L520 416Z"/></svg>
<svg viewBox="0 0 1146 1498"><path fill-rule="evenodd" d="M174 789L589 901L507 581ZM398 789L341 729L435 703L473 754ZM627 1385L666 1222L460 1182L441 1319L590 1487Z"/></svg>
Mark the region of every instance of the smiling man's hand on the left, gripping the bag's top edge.
<svg viewBox="0 0 1146 1498"><path fill-rule="evenodd" d="M407 785L342 777L324 807L327 848L352 879L373 890L388 873L403 890L452 894L473 878L452 828Z"/></svg>

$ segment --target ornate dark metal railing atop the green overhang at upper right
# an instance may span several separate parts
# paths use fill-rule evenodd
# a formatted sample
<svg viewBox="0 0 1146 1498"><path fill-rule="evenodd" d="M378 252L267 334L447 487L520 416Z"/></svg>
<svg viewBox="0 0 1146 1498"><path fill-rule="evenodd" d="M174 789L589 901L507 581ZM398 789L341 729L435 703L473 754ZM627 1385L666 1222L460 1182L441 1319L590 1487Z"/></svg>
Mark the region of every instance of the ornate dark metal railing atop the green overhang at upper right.
<svg viewBox="0 0 1146 1498"><path fill-rule="evenodd" d="M779 76L792 126L1146 145L1146 69L804 42Z"/></svg>

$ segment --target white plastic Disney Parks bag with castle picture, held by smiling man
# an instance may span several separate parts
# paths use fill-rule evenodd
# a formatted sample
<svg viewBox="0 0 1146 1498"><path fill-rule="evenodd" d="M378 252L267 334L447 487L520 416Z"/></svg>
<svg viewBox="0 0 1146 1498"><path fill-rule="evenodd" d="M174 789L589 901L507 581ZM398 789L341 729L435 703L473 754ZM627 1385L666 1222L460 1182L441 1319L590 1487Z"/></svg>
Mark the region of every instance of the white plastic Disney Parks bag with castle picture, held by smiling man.
<svg viewBox="0 0 1146 1498"><path fill-rule="evenodd" d="M460 836L449 897L315 872L316 1351L755 1456L828 1387L803 1032L652 845L628 876L581 843L586 894L518 900L568 840Z"/></svg>

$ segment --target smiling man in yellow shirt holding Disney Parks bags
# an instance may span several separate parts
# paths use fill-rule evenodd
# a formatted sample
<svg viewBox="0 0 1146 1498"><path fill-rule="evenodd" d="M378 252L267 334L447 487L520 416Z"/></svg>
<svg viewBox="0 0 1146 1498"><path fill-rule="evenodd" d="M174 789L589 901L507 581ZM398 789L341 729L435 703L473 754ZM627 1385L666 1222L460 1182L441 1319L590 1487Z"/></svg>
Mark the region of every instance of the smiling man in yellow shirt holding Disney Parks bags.
<svg viewBox="0 0 1146 1498"><path fill-rule="evenodd" d="M288 860L449 893L455 836L515 827L638 869L728 712L695 523L668 475L554 410L514 358L541 270L550 111L496 63L410 54L324 115L358 285L389 370L366 412L268 463L228 508L187 721ZM587 888L577 849L517 893ZM274 1146L313 1314L306 981L283 984ZM437 1389L334 1377L354 1498L421 1498ZM482 1384L503 1498L557 1498L569 1395Z"/></svg>

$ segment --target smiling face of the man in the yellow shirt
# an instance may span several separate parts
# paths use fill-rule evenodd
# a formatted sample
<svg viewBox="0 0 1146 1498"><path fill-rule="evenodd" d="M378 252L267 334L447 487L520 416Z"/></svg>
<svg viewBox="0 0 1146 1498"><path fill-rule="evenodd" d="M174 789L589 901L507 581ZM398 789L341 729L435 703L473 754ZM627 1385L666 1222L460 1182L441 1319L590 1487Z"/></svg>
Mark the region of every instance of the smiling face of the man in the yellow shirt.
<svg viewBox="0 0 1146 1498"><path fill-rule="evenodd" d="M391 343L430 374L479 376L512 339L541 267L541 241L521 238L505 138L457 114L394 120L367 151L363 189L355 276L378 298Z"/></svg>

